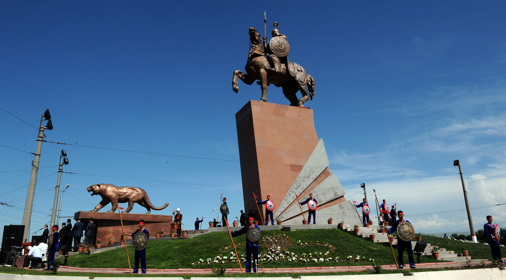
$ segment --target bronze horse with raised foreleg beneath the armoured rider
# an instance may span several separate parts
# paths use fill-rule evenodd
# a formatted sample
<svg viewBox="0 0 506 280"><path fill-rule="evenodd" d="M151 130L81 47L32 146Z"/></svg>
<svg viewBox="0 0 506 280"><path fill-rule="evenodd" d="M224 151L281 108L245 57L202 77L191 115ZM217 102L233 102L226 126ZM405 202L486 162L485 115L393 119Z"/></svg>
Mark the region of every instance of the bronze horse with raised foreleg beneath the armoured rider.
<svg viewBox="0 0 506 280"><path fill-rule="evenodd" d="M284 96L290 101L291 106L304 107L304 103L309 98L313 100L315 94L315 81L312 76L306 73L306 70L297 63L286 63L286 71L284 73L276 72L271 68L269 61L266 58L265 48L260 38L260 33L257 32L255 27L249 27L249 40L251 42L251 49L249 50L248 60L244 69L246 73L239 70L234 71L232 78L232 90L239 91L237 85L237 78L246 85L251 85L257 79L260 80L257 84L262 89L261 101L267 102L267 87L273 84L276 87L283 89ZM297 99L297 92L301 91L302 98Z"/></svg>

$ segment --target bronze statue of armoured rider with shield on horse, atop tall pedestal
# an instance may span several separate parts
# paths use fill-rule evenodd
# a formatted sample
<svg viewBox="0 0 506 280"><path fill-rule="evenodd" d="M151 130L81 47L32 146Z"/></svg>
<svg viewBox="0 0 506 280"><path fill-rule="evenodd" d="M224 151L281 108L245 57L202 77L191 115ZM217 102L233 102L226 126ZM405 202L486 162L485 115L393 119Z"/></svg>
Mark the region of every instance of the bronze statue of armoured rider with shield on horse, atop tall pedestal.
<svg viewBox="0 0 506 280"><path fill-rule="evenodd" d="M274 22L274 27L276 26L279 27L277 22ZM283 94L290 101L291 106L304 107L304 103L309 98L313 100L316 83L301 65L288 61L290 47L287 37L279 34L276 28L272 30L272 36L267 45L267 37L262 40L256 28L249 27L251 48L246 66L244 66L246 73L234 71L232 90L236 93L239 91L237 78L247 85L253 84L258 79L257 84L262 89L261 101L267 102L267 87L273 84L283 89ZM302 93L301 99L297 99L298 91Z"/></svg>

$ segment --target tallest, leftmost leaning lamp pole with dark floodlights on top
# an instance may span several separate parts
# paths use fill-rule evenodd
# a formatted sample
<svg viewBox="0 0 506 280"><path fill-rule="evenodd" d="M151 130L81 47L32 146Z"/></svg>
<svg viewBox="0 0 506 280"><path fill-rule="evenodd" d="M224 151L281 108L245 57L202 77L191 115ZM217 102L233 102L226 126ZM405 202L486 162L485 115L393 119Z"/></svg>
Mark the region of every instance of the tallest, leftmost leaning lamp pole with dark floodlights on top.
<svg viewBox="0 0 506 280"><path fill-rule="evenodd" d="M48 121L46 126L42 125L43 121ZM35 195L35 184L37 182L38 164L40 162L40 151L42 150L42 142L44 141L45 129L47 130L53 129L53 122L51 122L51 114L49 113L49 109L46 109L44 114L40 117L40 124L37 138L37 149L35 150L35 157L33 158L32 162L32 173L30 176L30 184L28 186L28 193L26 195L23 221L21 222L21 224L25 226L25 230L23 233L24 240L28 240L28 235L30 234L30 220L31 220L31 211L33 207L33 196Z"/></svg>

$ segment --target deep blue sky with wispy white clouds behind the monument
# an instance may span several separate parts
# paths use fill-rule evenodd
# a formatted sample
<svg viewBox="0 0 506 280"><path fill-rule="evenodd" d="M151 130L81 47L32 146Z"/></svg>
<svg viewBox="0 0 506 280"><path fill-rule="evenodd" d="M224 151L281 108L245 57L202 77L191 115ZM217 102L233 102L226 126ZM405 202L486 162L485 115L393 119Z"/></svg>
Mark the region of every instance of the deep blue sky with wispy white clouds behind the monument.
<svg viewBox="0 0 506 280"><path fill-rule="evenodd" d="M47 108L46 140L77 145L43 144L30 232L51 218L61 149L64 171L78 173L62 175L62 216L92 210L96 183L144 188L153 205L170 203L157 214L181 208L187 228L216 218L220 193L239 216L235 113L261 92L239 82L236 94L231 79L264 11L267 33L279 22L290 61L315 78L306 106L348 199L366 183L417 231L467 231L466 212L452 212L465 209L459 159L475 229L489 214L504 227L506 206L486 207L506 202L499 1L0 2L0 197L13 206L0 206L0 226L21 223L37 137L7 112L37 127ZM267 98L288 104L273 86Z"/></svg>

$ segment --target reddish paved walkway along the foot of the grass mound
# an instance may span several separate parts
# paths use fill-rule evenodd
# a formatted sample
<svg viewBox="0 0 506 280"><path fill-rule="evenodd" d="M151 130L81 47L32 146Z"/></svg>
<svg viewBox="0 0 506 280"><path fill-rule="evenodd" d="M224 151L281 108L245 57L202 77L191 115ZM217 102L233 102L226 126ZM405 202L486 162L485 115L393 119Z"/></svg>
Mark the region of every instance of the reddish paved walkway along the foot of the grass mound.
<svg viewBox="0 0 506 280"><path fill-rule="evenodd" d="M490 262L487 262L490 263ZM442 268L442 267L460 267L464 266L462 264L458 264L457 262L436 262L436 263L418 263L416 267L418 268ZM395 270L397 269L394 264L383 265L383 269L385 270ZM243 268L244 269L244 268ZM409 266L404 269L410 269ZM370 265L357 265L357 266L314 266L314 267L284 267L284 268L260 268L259 272L266 273L312 273L312 272L347 272L347 271L364 271L364 270L373 270ZM412 269L416 271L416 269ZM58 271L65 272L93 272L93 273L116 273L116 274L124 274L129 273L129 269L126 268L82 268L82 267L71 267L71 266L60 266ZM231 273L241 273L240 268L227 268L227 274ZM193 269L193 268L178 268L178 269L149 269L148 274L213 274L210 268L205 269Z"/></svg>

